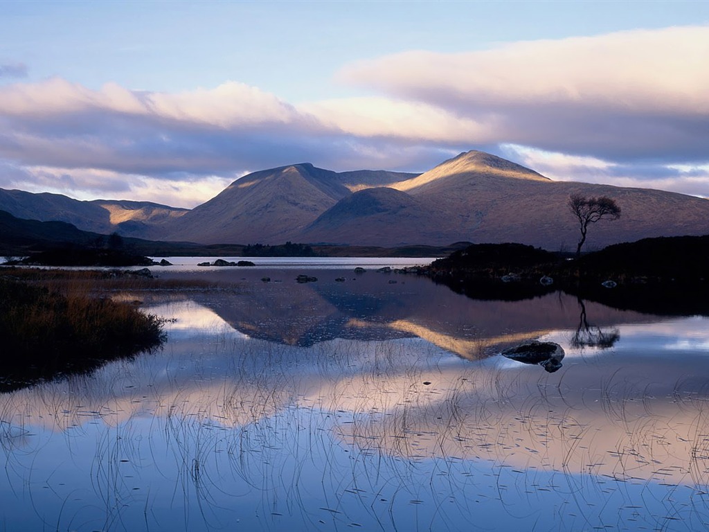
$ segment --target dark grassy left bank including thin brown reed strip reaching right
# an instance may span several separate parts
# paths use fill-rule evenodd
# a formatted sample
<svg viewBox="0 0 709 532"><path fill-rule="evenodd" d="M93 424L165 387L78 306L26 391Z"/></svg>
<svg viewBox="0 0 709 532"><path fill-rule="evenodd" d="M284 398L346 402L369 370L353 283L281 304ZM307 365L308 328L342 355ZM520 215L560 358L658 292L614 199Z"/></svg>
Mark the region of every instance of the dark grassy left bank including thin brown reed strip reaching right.
<svg viewBox="0 0 709 532"><path fill-rule="evenodd" d="M213 289L239 287L134 271L0 267L0 392L157 348L162 321L138 309L136 294Z"/></svg>

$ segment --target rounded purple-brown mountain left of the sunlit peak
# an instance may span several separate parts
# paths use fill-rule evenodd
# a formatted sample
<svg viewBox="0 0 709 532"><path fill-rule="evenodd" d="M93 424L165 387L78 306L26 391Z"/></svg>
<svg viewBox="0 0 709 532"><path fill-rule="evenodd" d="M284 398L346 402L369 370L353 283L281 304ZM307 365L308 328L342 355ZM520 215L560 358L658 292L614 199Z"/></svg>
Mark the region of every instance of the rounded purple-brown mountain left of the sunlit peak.
<svg viewBox="0 0 709 532"><path fill-rule="evenodd" d="M169 224L162 237L199 243L302 241L303 229L351 189L405 182L418 174L331 172L310 163L248 174ZM167 228L167 226L166 226Z"/></svg>

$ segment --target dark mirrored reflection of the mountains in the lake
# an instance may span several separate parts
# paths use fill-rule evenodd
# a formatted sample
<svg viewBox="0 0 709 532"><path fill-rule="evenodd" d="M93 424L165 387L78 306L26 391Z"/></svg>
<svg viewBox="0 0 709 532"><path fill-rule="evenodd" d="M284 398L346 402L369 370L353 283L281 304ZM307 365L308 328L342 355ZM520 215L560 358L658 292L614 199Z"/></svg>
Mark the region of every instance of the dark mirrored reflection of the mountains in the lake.
<svg viewBox="0 0 709 532"><path fill-rule="evenodd" d="M308 347L333 338L355 340L418 336L477 359L558 328L594 328L656 320L556 292L523 301L478 301L428 279L410 275L322 271L318 282L298 284L291 271L213 272L214 279L242 282L239 294L191 295L235 330L253 338ZM244 275L250 275L243 281ZM396 281L390 284L389 281ZM583 313L583 314L582 314ZM588 317L590 316L590 320Z"/></svg>

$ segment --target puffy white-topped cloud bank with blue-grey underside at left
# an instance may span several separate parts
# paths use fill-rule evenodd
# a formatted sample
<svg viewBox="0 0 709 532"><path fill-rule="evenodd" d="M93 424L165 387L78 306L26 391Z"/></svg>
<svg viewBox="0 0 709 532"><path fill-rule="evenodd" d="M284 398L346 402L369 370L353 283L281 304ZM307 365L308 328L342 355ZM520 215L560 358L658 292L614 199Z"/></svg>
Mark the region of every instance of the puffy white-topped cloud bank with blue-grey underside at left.
<svg viewBox="0 0 709 532"><path fill-rule="evenodd" d="M91 90L59 78L0 87L0 126L0 156L23 165L150 175L260 167L267 153L278 160L279 150L292 155L289 146L327 133L245 84L165 94L116 84Z"/></svg>

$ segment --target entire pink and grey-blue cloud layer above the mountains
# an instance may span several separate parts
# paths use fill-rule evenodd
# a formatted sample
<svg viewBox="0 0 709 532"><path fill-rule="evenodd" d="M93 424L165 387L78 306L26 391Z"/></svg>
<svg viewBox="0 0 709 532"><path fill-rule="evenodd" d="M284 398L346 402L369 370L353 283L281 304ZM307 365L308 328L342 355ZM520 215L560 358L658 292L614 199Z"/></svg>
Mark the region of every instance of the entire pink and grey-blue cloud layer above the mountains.
<svg viewBox="0 0 709 532"><path fill-rule="evenodd" d="M708 63L709 26L691 26L403 52L338 74L374 94L297 104L235 81L15 81L0 84L0 187L192 206L268 167L423 171L476 148L554 179L709 196Z"/></svg>

